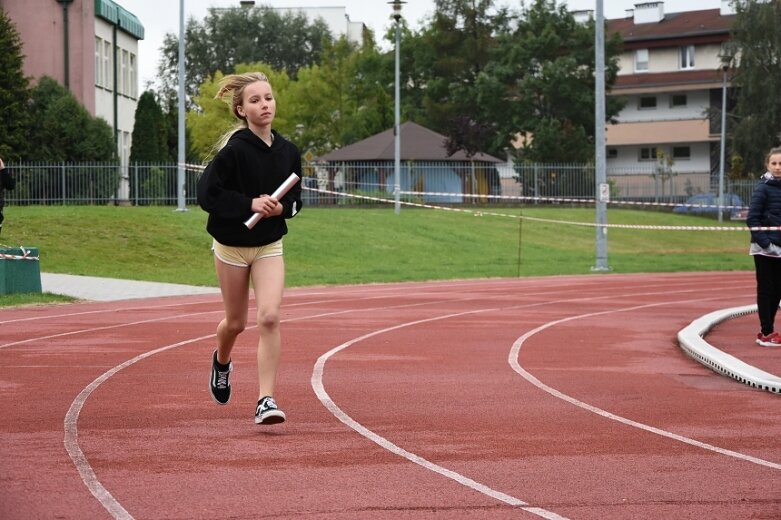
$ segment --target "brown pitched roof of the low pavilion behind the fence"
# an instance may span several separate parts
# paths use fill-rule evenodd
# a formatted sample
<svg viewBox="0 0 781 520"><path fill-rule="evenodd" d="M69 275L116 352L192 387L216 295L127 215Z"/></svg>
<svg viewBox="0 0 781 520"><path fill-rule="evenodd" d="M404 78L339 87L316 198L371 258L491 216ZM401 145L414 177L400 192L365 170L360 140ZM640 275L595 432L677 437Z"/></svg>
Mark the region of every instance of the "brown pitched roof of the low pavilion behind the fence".
<svg viewBox="0 0 781 520"><path fill-rule="evenodd" d="M403 161L468 161L462 151L447 155L444 135L438 134L416 123L407 122L400 126L401 159ZM367 137L333 152L318 157L321 161L392 161L395 159L393 129ZM482 152L472 157L475 161L499 163L501 159Z"/></svg>

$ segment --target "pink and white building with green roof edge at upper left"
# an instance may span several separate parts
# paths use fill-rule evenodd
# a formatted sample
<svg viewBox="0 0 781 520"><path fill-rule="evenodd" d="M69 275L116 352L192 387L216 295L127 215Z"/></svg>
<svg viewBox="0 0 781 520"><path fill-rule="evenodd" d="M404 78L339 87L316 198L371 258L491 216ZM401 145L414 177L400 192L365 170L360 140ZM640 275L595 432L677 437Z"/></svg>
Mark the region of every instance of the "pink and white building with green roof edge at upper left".
<svg viewBox="0 0 781 520"><path fill-rule="evenodd" d="M24 73L54 78L105 119L126 165L139 95L138 41L144 39L138 18L113 0L0 0L0 7L21 36Z"/></svg>

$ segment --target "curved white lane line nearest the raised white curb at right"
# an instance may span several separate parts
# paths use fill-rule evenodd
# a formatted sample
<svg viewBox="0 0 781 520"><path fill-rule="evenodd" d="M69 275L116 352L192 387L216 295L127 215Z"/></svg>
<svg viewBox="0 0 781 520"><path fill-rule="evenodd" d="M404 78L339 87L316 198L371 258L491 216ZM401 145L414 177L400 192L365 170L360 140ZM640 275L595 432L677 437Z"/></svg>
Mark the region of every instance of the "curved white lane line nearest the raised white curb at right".
<svg viewBox="0 0 781 520"><path fill-rule="evenodd" d="M539 379L537 379L536 377L531 375L529 372L527 372L520 365L520 363L518 362L518 358L520 357L520 353L521 353L521 346L523 345L523 343L527 339L529 339L530 337L534 336L535 334L537 334L539 332L542 332L545 329L548 329L548 328L551 328L551 327L555 327L556 325L560 325L560 324L566 323L568 321L579 320L579 319L583 319L583 318L591 318L591 317L594 317L594 316L604 316L604 315L607 315L607 314L613 314L613 313L618 313L618 312L627 312L627 311L634 311L634 310L638 310L638 309L647 309L649 307L659 307L659 306L671 305L671 304L675 304L675 303L688 303L688 302L692 302L692 301L701 301L701 300L681 300L681 301L677 301L677 302L663 302L663 303L652 303L652 304L647 304L647 305L637 305L637 306L634 306L634 307L625 307L623 309L613 309L613 310L607 310L607 311L592 312L592 313L588 313L588 314L581 314L581 315L578 315L578 316L570 316L568 318L563 318L563 319L560 319L560 320L550 321L548 323L540 325L539 327L537 327L535 329L530 330L529 332L527 332L523 336L519 337L515 341L515 343L513 343L513 346L510 349L510 355L508 356L508 362L510 363L510 366L513 368L513 370L515 370L524 379L529 381L531 384L533 384L534 386L536 386L540 390L543 390L544 392L547 392L548 394L550 394L550 395L552 395L554 397L557 397L557 398L559 398L559 399L561 399L563 401L566 401L566 402L568 402L570 404L573 404L573 405L575 405L575 406L577 406L579 408L582 408L584 410L588 410L589 412L597 414L597 415L599 415L601 417L604 417L606 419L611 419L613 421L617 421L617 422L619 422L621 424L624 424L624 425L627 425L627 426L631 426L633 428L638 428L640 430L644 430L644 431L647 431L647 432L650 432L650 433L654 433L656 435L661 435L662 437L667 437L668 439L672 439L672 440L675 440L675 441L678 441L678 442L682 442L684 444L689 444L691 446L696 446L697 448L702 448L702 449L705 449L705 450L713 451L713 452L719 453L721 455L726 455L728 457L734 457L734 458L742 460L742 461L751 462L753 464L758 464L760 466L765 466L765 467L768 467L768 468L771 468L771 469L781 469L781 464L778 464L778 463L775 463L775 462L771 462L771 461L767 461L767 460L764 460L764 459L760 459L760 458L757 458L757 457L752 457L751 455L746 455L744 453L739 453L739 452L728 450L728 449L725 449L725 448L719 448L718 446L714 446L712 444L708 444L708 443L701 442L701 441L698 441L698 440L695 440L695 439L691 439L689 437L684 437L683 435L678 435L676 433L672 433L672 432L669 432L667 430L662 430L661 428L656 428L654 426L649 426L647 424L639 423L637 421L633 421L631 419L627 419L626 417L622 417L620 415L616 415L616 414L610 413L610 412L608 412L606 410L603 410L601 408L597 408L596 406L592 406L592 405L590 405L588 403L584 403L583 401L575 399L574 397L571 397L571 396L569 396L567 394L564 394L563 392L560 392L560 391L556 390L555 388L552 388L552 387L546 385L545 383L543 383L542 381L540 381Z"/></svg>

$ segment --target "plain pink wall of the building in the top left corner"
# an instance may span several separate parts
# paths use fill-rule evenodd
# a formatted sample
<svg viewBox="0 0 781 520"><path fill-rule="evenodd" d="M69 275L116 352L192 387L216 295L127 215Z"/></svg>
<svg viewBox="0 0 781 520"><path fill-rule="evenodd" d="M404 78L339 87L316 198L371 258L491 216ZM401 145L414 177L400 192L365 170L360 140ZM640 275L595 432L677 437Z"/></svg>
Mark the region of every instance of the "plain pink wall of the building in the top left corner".
<svg viewBox="0 0 781 520"><path fill-rule="evenodd" d="M59 0L0 0L21 35L24 73L65 84L63 5ZM68 4L69 88L95 115L94 0Z"/></svg>

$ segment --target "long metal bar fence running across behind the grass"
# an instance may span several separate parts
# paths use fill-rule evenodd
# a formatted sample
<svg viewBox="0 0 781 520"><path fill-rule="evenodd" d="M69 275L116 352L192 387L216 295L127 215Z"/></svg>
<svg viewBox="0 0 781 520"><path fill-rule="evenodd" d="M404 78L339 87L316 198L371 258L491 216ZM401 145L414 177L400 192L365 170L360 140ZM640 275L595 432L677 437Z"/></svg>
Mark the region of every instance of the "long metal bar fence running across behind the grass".
<svg viewBox="0 0 781 520"><path fill-rule="evenodd" d="M17 187L6 204L176 205L177 165L173 163L9 164ZM185 168L185 202L196 203L202 167ZM393 161L311 163L304 167L308 205L366 205L394 198ZM608 169L612 202L680 204L698 193L715 193L710 172ZM745 203L754 181L727 182L726 193ZM555 199L593 201L595 171L584 164L491 164L475 162L401 163L398 187L404 201L427 204L539 204ZM506 197L506 198L503 198ZM378 200L379 199L379 200Z"/></svg>

